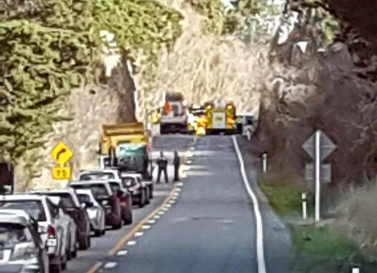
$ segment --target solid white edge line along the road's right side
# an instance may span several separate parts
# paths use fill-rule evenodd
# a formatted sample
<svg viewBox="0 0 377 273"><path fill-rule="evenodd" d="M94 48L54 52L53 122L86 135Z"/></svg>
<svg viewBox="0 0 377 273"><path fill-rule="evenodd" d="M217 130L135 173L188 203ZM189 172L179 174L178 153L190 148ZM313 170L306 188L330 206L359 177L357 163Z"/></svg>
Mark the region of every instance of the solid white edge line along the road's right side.
<svg viewBox="0 0 377 273"><path fill-rule="evenodd" d="M242 179L244 180L247 192L249 193L251 200L253 201L253 207L254 207L254 214L255 214L255 220L256 220L256 247L257 247L257 262L258 262L258 273L266 273L266 262L264 259L264 245L263 245L263 223L262 223L262 215L261 211L259 210L259 204L258 199L253 192L253 190L250 187L249 181L246 176L245 172L245 163L242 159L241 151L239 150L238 143L235 136L232 136L234 149L236 150Z"/></svg>

